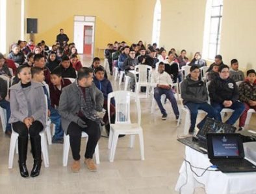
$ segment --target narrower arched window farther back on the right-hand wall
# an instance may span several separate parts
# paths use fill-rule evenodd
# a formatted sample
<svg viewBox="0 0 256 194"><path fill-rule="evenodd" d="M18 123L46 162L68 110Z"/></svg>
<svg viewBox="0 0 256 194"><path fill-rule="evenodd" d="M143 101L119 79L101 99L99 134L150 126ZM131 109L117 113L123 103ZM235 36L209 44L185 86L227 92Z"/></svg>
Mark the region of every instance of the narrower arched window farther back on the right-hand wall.
<svg viewBox="0 0 256 194"><path fill-rule="evenodd" d="M153 18L153 32L152 32L152 43L159 45L160 39L160 24L161 24L161 2L157 0L155 3L155 11Z"/></svg>

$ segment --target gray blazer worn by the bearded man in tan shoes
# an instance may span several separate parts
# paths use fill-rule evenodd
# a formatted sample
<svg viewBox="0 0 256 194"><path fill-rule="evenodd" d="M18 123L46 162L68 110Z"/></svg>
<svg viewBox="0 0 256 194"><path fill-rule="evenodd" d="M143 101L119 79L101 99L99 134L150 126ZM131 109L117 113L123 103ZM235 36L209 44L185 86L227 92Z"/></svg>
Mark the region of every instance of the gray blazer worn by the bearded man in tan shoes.
<svg viewBox="0 0 256 194"><path fill-rule="evenodd" d="M103 93L92 83L90 95L94 103L94 109L101 112L103 109ZM58 103L58 113L61 115L62 128L68 134L68 126L71 122L77 123L80 110L79 91L76 81L62 89L60 102Z"/></svg>

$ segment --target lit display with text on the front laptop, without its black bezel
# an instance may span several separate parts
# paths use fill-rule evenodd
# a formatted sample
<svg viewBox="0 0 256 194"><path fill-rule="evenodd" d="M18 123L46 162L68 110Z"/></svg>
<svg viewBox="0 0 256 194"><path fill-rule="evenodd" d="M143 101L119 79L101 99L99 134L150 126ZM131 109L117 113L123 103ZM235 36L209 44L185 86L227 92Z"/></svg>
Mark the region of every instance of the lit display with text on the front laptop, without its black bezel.
<svg viewBox="0 0 256 194"><path fill-rule="evenodd" d="M239 156L238 142L235 136L213 136L214 156Z"/></svg>

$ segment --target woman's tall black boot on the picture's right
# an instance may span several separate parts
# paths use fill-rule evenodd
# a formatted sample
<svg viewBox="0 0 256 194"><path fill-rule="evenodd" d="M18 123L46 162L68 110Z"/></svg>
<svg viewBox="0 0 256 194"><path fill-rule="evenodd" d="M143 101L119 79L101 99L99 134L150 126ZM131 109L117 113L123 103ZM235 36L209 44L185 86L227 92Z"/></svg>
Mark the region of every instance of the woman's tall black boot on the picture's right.
<svg viewBox="0 0 256 194"><path fill-rule="evenodd" d="M31 177L37 177L40 174L42 164L40 135L31 137L31 150L34 158L34 165L31 170Z"/></svg>

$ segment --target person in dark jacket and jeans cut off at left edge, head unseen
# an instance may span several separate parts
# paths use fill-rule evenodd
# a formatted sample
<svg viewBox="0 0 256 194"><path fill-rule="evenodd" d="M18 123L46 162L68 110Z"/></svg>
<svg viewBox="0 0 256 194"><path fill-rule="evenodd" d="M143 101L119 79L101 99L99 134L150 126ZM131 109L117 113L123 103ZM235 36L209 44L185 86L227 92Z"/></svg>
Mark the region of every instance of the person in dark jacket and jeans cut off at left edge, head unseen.
<svg viewBox="0 0 256 194"><path fill-rule="evenodd" d="M1 59L0 59L1 61ZM1 63L1 62L0 62ZM6 110L6 128L5 134L10 136L12 134L12 128L8 123L10 118L10 102L8 102L5 98L7 96L7 83L3 78L0 78L0 107Z"/></svg>

